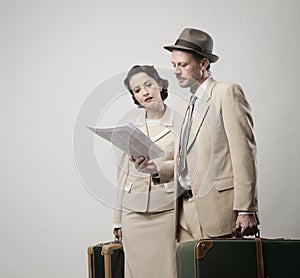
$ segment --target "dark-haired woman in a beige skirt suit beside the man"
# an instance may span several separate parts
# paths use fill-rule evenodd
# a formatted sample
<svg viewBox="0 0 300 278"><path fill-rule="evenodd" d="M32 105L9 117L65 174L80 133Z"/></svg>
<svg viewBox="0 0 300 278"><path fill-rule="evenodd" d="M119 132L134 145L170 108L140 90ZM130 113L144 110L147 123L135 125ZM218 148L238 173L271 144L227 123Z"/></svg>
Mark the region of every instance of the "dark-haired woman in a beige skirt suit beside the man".
<svg viewBox="0 0 300 278"><path fill-rule="evenodd" d="M136 126L165 151L154 161L120 160L114 235L123 242L125 277L176 277L173 145L180 124L164 104L168 81L153 66L134 66L124 83L143 108Z"/></svg>

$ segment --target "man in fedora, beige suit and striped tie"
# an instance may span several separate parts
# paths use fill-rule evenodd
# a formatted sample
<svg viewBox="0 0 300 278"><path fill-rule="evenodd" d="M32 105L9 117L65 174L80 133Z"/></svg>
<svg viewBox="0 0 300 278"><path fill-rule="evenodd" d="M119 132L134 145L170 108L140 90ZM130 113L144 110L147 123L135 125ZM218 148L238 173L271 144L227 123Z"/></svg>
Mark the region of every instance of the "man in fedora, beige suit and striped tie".
<svg viewBox="0 0 300 278"><path fill-rule="evenodd" d="M218 56L209 34L186 28L164 48L172 52L179 86L196 97L178 142L177 239L226 237L235 227L253 235L259 224L256 142L242 88L212 78Z"/></svg>

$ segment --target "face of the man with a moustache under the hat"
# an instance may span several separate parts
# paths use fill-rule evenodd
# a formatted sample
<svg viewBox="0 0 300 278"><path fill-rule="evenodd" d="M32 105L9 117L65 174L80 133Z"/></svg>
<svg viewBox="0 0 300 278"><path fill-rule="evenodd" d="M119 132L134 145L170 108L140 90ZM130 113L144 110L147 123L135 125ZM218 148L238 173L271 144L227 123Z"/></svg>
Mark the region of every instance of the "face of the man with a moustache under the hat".
<svg viewBox="0 0 300 278"><path fill-rule="evenodd" d="M172 64L174 73L182 88L198 86L203 74L200 62L186 51L173 50Z"/></svg>

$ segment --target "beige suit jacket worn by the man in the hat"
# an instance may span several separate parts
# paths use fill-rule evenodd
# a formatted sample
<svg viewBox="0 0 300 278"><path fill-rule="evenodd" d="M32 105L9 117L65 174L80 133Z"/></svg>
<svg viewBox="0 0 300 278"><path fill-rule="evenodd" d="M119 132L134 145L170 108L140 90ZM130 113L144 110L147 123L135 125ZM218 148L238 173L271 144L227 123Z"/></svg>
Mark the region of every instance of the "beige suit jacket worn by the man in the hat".
<svg viewBox="0 0 300 278"><path fill-rule="evenodd" d="M209 80L196 102L187 161L196 212L185 213L199 219L193 229L209 237L230 234L237 211L257 211L253 120L239 85Z"/></svg>

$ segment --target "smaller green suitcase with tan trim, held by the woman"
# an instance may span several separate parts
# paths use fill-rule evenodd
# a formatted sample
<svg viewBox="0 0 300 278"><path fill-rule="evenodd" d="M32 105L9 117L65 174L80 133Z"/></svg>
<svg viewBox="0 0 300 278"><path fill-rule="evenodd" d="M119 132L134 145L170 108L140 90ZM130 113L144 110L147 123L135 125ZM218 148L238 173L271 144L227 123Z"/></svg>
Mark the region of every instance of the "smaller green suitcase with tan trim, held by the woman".
<svg viewBox="0 0 300 278"><path fill-rule="evenodd" d="M88 247L89 278L123 278L124 251L121 242L112 241Z"/></svg>

